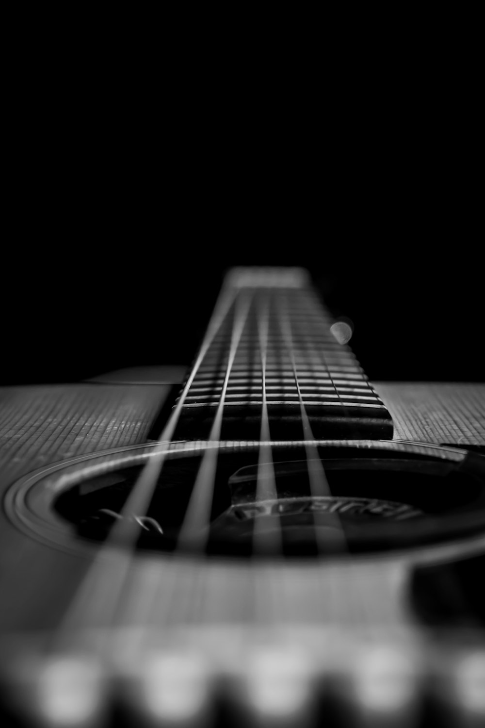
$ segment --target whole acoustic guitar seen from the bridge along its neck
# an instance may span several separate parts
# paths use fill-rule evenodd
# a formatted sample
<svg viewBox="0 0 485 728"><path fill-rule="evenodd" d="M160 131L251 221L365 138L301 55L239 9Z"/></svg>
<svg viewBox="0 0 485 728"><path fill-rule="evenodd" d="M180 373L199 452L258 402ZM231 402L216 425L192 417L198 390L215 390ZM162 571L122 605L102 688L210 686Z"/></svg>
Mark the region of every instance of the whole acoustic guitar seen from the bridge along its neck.
<svg viewBox="0 0 485 728"><path fill-rule="evenodd" d="M485 385L350 334L238 268L185 378L1 391L3 725L485 725Z"/></svg>

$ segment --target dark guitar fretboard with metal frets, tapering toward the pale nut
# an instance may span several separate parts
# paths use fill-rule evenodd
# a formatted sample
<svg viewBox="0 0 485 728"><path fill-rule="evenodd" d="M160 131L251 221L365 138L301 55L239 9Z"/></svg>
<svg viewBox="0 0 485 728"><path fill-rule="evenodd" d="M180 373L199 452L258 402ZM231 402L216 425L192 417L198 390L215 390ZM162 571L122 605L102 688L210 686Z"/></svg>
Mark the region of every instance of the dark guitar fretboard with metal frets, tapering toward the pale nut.
<svg viewBox="0 0 485 728"><path fill-rule="evenodd" d="M301 269L233 269L217 301L185 392L177 438L209 436L223 407L221 438L392 438L388 410ZM306 433L308 438L308 432Z"/></svg>

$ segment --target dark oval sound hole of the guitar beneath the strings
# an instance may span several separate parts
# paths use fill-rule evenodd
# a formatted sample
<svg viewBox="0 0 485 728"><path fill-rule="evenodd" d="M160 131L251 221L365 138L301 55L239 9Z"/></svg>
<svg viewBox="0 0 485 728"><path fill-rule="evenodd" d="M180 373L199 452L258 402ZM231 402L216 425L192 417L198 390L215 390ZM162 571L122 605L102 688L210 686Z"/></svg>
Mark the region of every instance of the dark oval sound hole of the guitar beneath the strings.
<svg viewBox="0 0 485 728"><path fill-rule="evenodd" d="M321 462L328 491L316 497L307 462L294 451L278 454L276 498L263 503L256 497L257 453L220 454L203 539L207 553L254 555L257 523L264 523L268 539L280 534L282 555L307 557L413 547L473 532L485 522L483 472L404 454L326 452ZM200 462L200 456L168 460L148 512L123 516L140 524L137 550L177 547ZM56 517L70 523L78 537L103 541L121 518L140 472L134 466L80 477L53 502ZM332 538L335 529L342 539Z"/></svg>

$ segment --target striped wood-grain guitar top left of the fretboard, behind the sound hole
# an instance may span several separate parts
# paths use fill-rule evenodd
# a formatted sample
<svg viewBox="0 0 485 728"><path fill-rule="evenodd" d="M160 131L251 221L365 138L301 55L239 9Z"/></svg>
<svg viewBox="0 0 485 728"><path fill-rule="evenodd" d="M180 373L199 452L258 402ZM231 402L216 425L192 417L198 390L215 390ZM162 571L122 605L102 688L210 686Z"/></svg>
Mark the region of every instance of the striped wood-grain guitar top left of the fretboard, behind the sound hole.
<svg viewBox="0 0 485 728"><path fill-rule="evenodd" d="M168 391L164 384L0 389L0 482L56 460L143 442Z"/></svg>

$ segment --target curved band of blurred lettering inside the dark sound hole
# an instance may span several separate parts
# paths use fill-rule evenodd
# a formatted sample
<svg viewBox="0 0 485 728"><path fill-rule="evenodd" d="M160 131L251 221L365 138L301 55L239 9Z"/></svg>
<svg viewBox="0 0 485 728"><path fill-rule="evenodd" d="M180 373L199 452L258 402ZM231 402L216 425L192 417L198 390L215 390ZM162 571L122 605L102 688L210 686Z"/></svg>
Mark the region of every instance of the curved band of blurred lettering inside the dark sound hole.
<svg viewBox="0 0 485 728"><path fill-rule="evenodd" d="M268 516L296 516L304 513L336 514L344 517L390 519L406 521L424 515L421 510L406 503L376 498L351 498L345 496L316 496L308 498L283 498L258 503L246 503L233 507L233 515L240 521Z"/></svg>

